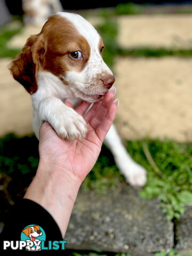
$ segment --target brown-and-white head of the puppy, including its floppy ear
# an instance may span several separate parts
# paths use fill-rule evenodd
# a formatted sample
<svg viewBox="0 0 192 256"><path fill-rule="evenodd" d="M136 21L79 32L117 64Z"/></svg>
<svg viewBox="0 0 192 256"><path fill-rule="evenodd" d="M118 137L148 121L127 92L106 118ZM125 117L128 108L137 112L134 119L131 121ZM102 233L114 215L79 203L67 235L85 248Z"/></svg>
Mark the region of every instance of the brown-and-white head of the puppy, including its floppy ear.
<svg viewBox="0 0 192 256"><path fill-rule="evenodd" d="M37 90L38 71L49 71L75 97L94 102L115 81L102 59L103 48L102 38L88 21L78 14L61 12L47 20L41 33L28 39L10 69L29 93Z"/></svg>

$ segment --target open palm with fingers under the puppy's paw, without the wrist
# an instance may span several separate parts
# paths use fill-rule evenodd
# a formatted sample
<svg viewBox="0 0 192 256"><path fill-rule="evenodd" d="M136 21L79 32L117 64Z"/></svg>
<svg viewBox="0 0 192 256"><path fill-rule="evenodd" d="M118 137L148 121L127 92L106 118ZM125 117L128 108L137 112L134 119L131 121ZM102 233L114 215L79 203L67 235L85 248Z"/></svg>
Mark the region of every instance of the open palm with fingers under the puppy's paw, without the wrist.
<svg viewBox="0 0 192 256"><path fill-rule="evenodd" d="M87 133L81 140L62 140L45 122L39 131L40 162L56 165L63 172L67 170L68 175L75 175L83 181L97 161L103 139L114 121L117 101L113 100L114 93L108 92L102 100L94 103L84 116ZM72 107L69 102L66 105ZM88 107L89 103L83 101L75 111L83 116Z"/></svg>

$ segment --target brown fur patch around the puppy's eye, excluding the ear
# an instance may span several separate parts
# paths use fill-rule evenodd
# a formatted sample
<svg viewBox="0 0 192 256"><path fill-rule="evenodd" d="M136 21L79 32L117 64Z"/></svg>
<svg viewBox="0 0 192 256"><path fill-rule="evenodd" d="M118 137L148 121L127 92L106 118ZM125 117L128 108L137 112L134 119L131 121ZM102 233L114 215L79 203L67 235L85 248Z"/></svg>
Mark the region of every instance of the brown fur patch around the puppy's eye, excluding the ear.
<svg viewBox="0 0 192 256"><path fill-rule="evenodd" d="M90 57L90 45L73 23L55 14L45 23L41 33L47 42L45 70L56 76L65 75L69 70L82 71ZM83 58L71 58L69 53L76 51L81 51Z"/></svg>

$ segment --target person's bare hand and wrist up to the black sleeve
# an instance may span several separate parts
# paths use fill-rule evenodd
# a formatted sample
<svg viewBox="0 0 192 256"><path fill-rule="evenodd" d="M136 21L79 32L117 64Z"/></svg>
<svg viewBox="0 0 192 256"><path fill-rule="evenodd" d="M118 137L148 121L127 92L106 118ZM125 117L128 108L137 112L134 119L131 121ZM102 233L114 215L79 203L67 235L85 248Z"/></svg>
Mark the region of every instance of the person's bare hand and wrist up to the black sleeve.
<svg viewBox="0 0 192 256"><path fill-rule="evenodd" d="M39 165L24 198L43 206L58 223L63 237L78 189L97 161L114 121L118 100L113 100L114 93L108 92L94 103L84 116L88 131L81 140L60 139L47 122L39 131ZM69 102L66 105L71 107ZM75 111L83 115L87 107L89 103L82 102Z"/></svg>

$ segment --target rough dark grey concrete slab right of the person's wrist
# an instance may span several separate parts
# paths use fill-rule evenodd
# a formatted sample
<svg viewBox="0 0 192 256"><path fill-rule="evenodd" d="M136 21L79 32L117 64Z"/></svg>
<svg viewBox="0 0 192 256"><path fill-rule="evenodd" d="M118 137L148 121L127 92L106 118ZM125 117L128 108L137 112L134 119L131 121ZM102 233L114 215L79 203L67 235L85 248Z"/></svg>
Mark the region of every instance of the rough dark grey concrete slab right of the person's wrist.
<svg viewBox="0 0 192 256"><path fill-rule="evenodd" d="M106 195L79 193L65 239L67 249L152 256L173 246L173 225L157 198L141 199L130 186Z"/></svg>

